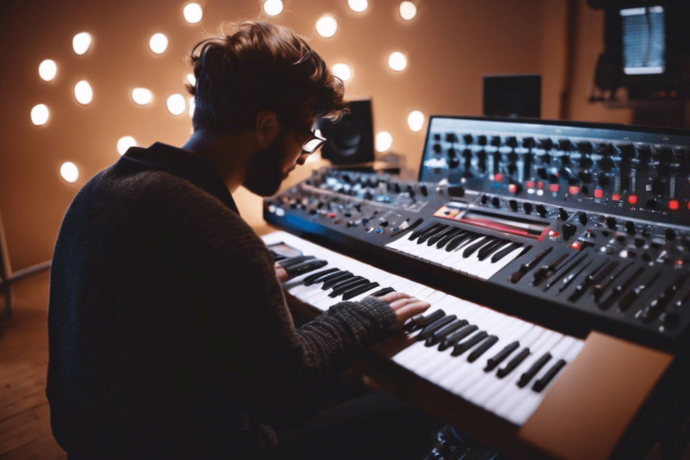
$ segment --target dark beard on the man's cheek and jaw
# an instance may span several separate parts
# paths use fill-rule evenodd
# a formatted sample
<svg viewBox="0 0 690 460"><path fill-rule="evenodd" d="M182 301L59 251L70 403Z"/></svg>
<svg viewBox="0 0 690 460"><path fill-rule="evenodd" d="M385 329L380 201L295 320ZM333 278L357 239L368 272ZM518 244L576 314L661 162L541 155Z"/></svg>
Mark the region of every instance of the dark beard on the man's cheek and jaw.
<svg viewBox="0 0 690 460"><path fill-rule="evenodd" d="M259 197L275 195L287 176L280 166L285 154L284 138L282 132L270 146L255 154L249 161L247 176L242 185Z"/></svg>

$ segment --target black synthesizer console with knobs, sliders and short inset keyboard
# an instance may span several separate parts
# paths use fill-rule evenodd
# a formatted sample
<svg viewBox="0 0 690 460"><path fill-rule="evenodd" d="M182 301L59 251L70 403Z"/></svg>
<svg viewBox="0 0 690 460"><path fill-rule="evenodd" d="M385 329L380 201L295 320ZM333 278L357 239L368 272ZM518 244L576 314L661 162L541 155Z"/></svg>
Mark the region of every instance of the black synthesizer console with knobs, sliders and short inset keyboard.
<svg viewBox="0 0 690 460"><path fill-rule="evenodd" d="M689 150L684 130L436 116L417 181L323 168L265 199L264 219L498 312L678 357Z"/></svg>

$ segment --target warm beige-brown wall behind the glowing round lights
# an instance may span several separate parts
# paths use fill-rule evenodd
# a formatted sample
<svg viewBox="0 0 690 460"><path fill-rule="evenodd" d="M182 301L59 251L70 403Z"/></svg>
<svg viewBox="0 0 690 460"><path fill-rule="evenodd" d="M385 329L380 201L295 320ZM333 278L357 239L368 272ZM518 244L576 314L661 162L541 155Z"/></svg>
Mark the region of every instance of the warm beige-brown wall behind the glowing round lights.
<svg viewBox="0 0 690 460"><path fill-rule="evenodd" d="M603 17L587 8L585 0L577 1L572 57L565 53L567 0L415 0L418 15L407 23L397 17L398 0L369 0L362 14L349 10L346 0L285 0L285 11L271 20L311 37L313 47L329 63L352 66L348 98L373 99L375 131L391 132L391 152L417 168L424 129L412 132L407 114L481 114L484 74L542 74L542 117L555 119L566 89L566 59L572 58L567 118L629 120L627 111L612 112L586 101L602 50ZM190 119L168 114L165 99L184 92L188 48L204 32L215 32L221 21L256 19L262 5L260 0L199 0L204 19L191 26L181 14L186 3L1 2L5 100L0 104L0 212L14 270L50 259L70 200L88 178L117 161L117 139L130 135L140 146L184 143ZM331 39L319 37L314 28L326 13L339 21ZM77 56L71 41L82 31L95 40L85 56ZM170 38L161 56L148 50L155 32ZM388 54L395 50L408 57L404 72L386 67ZM37 68L43 59L57 61L55 81L39 79ZM80 79L88 79L94 88L88 106L80 106L72 96ZM131 101L129 93L136 86L153 91L150 106ZM51 110L46 126L30 122L30 110L37 103ZM76 183L59 177L63 161L79 166ZM306 174L308 170L292 181ZM236 198L246 217L260 223L259 200L247 192L238 192Z"/></svg>

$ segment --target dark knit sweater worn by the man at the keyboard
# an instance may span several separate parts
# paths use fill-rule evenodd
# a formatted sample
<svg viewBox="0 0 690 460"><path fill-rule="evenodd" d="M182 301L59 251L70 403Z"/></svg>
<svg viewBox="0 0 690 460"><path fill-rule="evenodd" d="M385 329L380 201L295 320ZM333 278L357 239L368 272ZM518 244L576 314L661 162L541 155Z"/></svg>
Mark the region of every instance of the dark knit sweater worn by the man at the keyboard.
<svg viewBox="0 0 690 460"><path fill-rule="evenodd" d="M215 170L161 143L132 148L79 191L55 246L55 439L72 457L252 457L393 321L368 297L295 329L270 252Z"/></svg>

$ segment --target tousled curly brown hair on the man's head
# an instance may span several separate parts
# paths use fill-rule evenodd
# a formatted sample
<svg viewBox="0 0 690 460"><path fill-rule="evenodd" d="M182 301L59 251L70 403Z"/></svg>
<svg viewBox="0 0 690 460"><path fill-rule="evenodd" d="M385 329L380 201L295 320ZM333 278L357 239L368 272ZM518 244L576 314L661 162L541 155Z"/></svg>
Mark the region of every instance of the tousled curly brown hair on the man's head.
<svg viewBox="0 0 690 460"><path fill-rule="evenodd" d="M221 26L190 52L195 85L195 130L232 132L254 127L261 110L273 110L284 126L302 128L317 117L346 113L342 80L289 28L264 21Z"/></svg>

